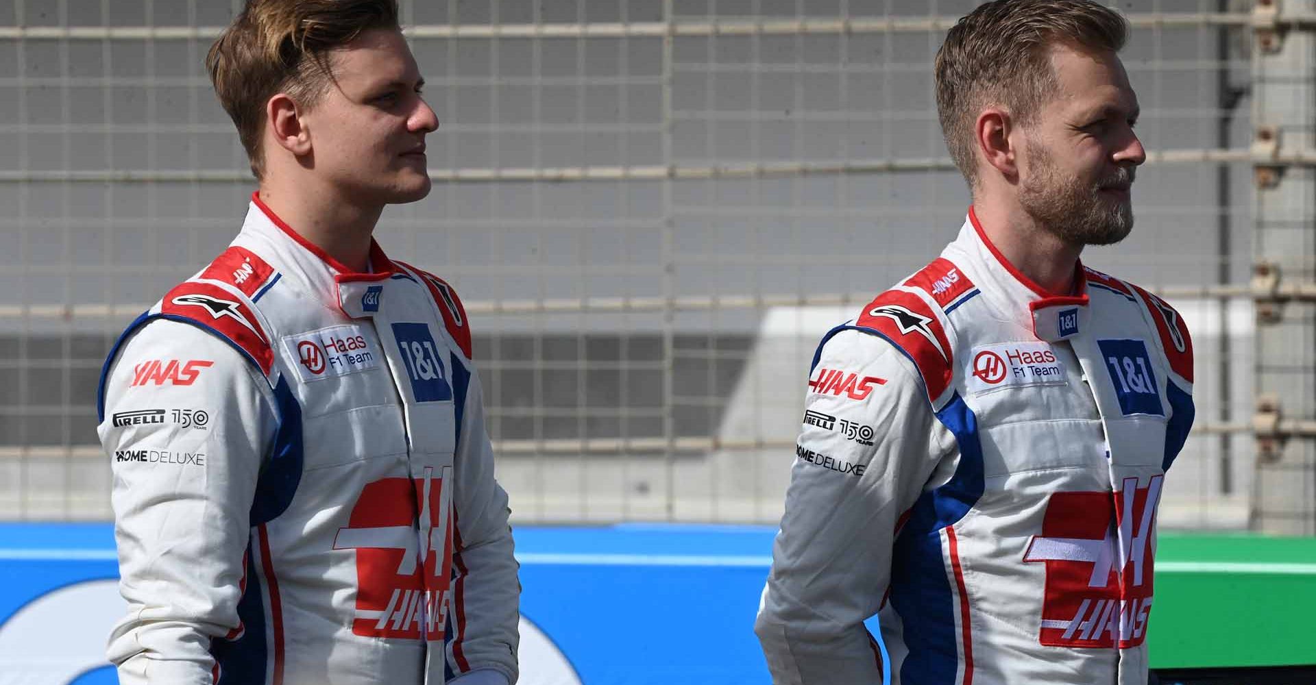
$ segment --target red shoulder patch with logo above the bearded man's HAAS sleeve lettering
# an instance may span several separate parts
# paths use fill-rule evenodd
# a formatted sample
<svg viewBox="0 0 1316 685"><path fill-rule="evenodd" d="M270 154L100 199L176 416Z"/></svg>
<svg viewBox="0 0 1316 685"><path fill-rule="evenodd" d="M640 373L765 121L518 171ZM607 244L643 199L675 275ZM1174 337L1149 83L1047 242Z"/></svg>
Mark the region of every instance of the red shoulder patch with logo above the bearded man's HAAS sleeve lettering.
<svg viewBox="0 0 1316 685"><path fill-rule="evenodd" d="M904 291L887 291L863 308L857 323L880 331L913 359L928 387L929 400L941 397L950 387L950 341L941 321L921 297Z"/></svg>

